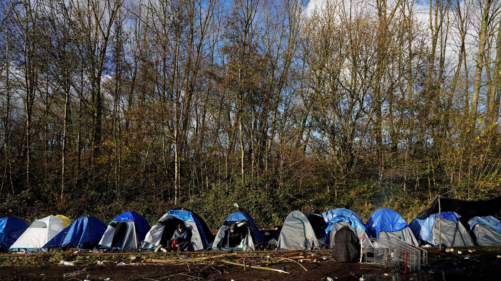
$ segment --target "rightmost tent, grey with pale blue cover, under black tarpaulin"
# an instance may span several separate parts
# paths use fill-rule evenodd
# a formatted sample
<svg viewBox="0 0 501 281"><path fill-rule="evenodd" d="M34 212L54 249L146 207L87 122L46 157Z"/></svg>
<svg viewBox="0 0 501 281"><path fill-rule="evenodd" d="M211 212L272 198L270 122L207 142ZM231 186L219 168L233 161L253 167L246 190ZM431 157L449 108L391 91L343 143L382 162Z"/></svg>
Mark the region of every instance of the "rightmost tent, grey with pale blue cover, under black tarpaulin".
<svg viewBox="0 0 501 281"><path fill-rule="evenodd" d="M479 246L501 245L501 221L488 216L474 216L468 221Z"/></svg>

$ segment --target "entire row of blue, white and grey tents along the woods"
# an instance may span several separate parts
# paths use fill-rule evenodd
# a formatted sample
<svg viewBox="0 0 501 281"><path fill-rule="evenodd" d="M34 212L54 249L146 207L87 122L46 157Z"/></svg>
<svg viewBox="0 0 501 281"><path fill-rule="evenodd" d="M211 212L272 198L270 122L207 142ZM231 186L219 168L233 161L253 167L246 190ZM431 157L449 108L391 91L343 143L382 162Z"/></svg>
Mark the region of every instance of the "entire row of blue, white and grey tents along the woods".
<svg viewBox="0 0 501 281"><path fill-rule="evenodd" d="M335 243L334 234L345 225L359 237L400 237L416 246L436 246L440 242L445 246L501 244L501 221L492 215L482 215L501 208L501 201L481 201L483 204L472 205L476 207L476 210L472 210L467 208L471 205L469 203L479 201L443 196L437 198L442 200L444 208L437 211L434 202L409 224L397 212L388 208L376 210L366 223L345 207L324 213L310 211L306 215L295 210L285 219L276 246L278 249L332 247ZM259 244L264 240L262 231L252 217L243 211L230 214L214 236L200 216L181 208L167 211L151 227L145 218L133 211L118 215L107 226L92 216L84 216L72 222L64 215L49 215L35 220L31 225L19 218L4 217L0 218L0 251L37 252L70 247L153 250L159 244L169 243L179 223L183 223L192 232L187 249L190 251L207 248L253 250L260 248ZM232 248L227 244L231 225L245 233L240 245ZM268 241L265 243L269 244Z"/></svg>

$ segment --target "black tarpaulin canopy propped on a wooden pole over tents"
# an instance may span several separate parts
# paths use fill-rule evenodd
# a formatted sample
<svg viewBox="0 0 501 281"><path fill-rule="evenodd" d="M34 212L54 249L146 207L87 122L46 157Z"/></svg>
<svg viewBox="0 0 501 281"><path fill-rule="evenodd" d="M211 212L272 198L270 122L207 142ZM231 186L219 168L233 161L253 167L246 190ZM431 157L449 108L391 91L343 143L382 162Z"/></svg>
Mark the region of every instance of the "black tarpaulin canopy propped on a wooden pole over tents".
<svg viewBox="0 0 501 281"><path fill-rule="evenodd" d="M494 215L501 211L501 197L489 200L469 201L453 199L439 194L435 197L431 206L418 213L416 218L425 219L431 214L438 213L438 199L440 199L441 212L454 211L461 215L461 220L465 221L473 216Z"/></svg>

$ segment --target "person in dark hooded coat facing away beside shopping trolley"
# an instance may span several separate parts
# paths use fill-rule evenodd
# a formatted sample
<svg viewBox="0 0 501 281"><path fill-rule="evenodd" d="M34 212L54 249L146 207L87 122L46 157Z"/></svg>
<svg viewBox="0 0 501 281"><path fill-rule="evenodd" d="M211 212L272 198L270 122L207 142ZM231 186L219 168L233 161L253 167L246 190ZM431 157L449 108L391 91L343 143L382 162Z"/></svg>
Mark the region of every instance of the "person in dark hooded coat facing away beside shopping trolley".
<svg viewBox="0 0 501 281"><path fill-rule="evenodd" d="M341 227L334 235L332 257L341 262L356 262L360 258L360 240L348 225Z"/></svg>

